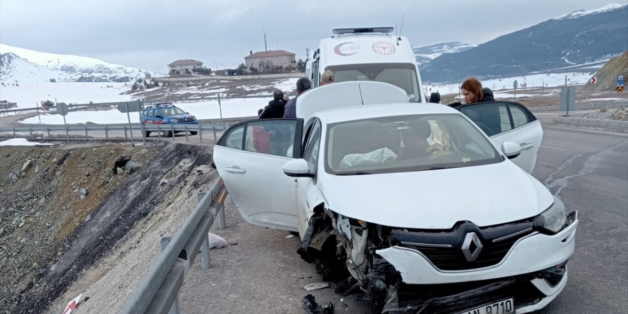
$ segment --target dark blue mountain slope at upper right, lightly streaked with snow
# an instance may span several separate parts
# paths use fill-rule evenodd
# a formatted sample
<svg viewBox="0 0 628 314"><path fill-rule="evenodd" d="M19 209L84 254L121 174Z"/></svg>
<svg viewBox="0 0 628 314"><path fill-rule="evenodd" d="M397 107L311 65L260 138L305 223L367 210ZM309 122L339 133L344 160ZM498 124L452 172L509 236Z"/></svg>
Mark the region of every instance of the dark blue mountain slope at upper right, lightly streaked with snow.
<svg viewBox="0 0 628 314"><path fill-rule="evenodd" d="M426 82L470 76L507 77L541 72L591 72L628 49L628 6L575 11L475 48L447 53L421 66Z"/></svg>

